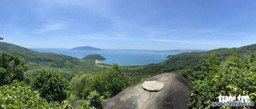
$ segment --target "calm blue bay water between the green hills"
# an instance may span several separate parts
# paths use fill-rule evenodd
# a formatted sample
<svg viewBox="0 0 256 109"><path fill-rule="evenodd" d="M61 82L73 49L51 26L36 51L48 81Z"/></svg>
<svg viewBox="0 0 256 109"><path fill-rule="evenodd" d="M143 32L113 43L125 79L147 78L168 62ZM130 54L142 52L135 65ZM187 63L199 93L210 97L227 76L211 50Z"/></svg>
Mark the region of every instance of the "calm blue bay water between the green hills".
<svg viewBox="0 0 256 109"><path fill-rule="evenodd" d="M106 60L99 62L119 65L146 65L150 63L159 63L166 60L166 56L179 54L177 52L155 52L155 51L94 51L94 50L70 50L70 49L53 49L53 48L30 48L37 52L51 52L64 54L72 57L83 58L89 54L99 54Z"/></svg>

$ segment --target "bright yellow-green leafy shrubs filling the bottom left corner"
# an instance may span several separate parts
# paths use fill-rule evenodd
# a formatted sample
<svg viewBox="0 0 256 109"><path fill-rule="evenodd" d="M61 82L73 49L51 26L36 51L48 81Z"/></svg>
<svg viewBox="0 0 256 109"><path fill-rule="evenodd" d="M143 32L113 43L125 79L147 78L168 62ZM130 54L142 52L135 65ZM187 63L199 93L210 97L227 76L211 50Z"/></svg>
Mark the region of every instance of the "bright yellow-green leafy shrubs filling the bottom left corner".
<svg viewBox="0 0 256 109"><path fill-rule="evenodd" d="M0 87L1 109L71 109L68 101L47 102L38 91L17 80L11 85Z"/></svg>

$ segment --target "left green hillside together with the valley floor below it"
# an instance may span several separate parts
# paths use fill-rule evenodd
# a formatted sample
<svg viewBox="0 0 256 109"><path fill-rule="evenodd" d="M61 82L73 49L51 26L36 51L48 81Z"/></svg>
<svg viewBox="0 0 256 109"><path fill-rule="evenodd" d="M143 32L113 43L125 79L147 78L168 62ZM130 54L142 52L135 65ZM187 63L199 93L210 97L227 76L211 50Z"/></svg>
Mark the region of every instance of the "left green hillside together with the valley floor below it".
<svg viewBox="0 0 256 109"><path fill-rule="evenodd" d="M75 75L84 73L96 74L107 69L105 67L96 67L94 60L85 61L62 54L40 53L6 42L0 42L0 53L2 52L12 53L25 59L29 65L27 73L31 76L38 75L41 70L45 69L56 71L70 80Z"/></svg>

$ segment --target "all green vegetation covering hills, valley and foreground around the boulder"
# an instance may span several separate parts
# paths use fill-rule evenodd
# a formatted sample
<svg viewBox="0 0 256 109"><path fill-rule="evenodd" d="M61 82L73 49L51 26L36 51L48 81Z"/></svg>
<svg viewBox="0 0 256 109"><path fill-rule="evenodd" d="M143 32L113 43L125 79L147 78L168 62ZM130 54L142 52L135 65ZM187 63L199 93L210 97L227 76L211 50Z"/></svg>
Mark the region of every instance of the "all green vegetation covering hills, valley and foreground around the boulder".
<svg viewBox="0 0 256 109"><path fill-rule="evenodd" d="M0 53L2 109L71 109L76 100L83 100L79 109L101 109L105 99L124 88L165 72L177 72L193 82L190 108L220 108L212 106L220 94L249 95L256 103L256 44L181 53L140 66L95 65L94 60L39 53L5 42L0 42Z"/></svg>

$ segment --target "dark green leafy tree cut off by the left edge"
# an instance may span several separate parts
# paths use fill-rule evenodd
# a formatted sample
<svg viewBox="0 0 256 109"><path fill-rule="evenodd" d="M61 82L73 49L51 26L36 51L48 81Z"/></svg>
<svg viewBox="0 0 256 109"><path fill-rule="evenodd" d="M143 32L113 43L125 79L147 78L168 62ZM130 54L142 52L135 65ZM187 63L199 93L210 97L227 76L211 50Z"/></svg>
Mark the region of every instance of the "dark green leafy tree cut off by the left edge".
<svg viewBox="0 0 256 109"><path fill-rule="evenodd" d="M24 59L11 53L2 53L0 56L0 86L11 84L13 80L23 81L24 72L28 65Z"/></svg>

